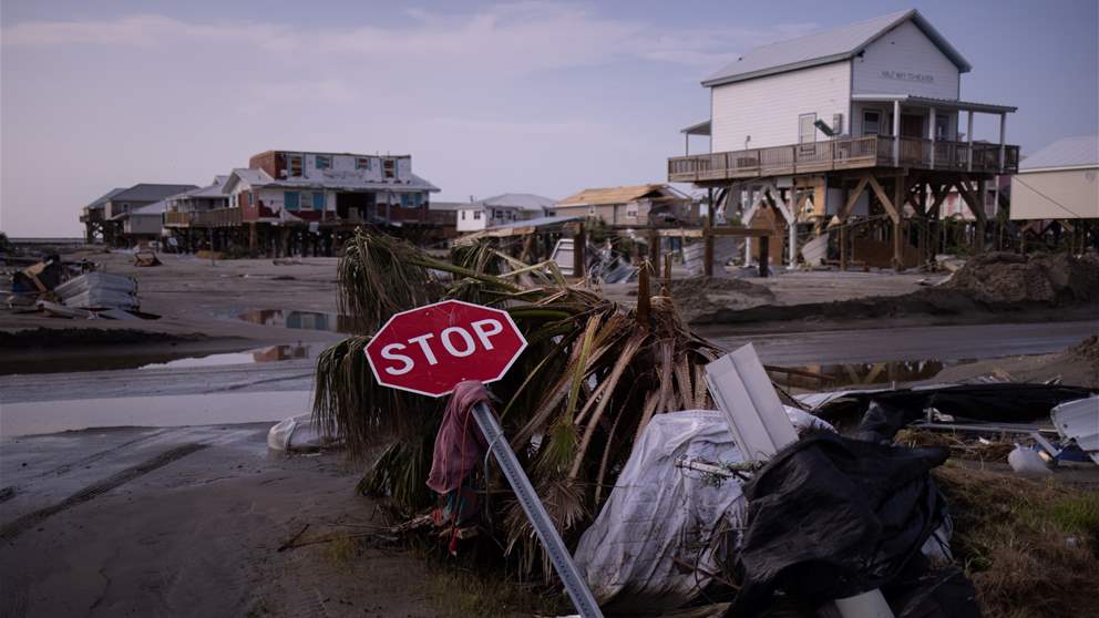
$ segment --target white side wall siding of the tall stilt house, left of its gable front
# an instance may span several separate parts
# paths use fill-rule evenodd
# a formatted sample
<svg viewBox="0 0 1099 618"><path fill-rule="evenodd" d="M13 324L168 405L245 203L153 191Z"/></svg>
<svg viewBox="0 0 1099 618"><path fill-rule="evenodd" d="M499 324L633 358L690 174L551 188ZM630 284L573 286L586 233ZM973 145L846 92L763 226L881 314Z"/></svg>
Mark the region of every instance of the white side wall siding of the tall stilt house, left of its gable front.
<svg viewBox="0 0 1099 618"><path fill-rule="evenodd" d="M850 124L851 64L834 62L726 84L711 92L711 152L762 148L798 143L798 116L815 113L832 124L843 114L843 132ZM824 135L815 132L816 140Z"/></svg>

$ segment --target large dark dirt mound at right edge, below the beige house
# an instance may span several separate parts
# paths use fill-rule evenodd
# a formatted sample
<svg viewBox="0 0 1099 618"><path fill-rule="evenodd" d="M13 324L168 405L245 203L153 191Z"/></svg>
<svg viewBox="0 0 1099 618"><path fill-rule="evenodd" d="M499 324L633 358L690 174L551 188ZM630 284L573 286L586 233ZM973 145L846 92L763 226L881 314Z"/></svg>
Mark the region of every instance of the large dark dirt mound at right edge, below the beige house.
<svg viewBox="0 0 1099 618"><path fill-rule="evenodd" d="M1099 260L1067 254L985 254L966 261L945 287L993 303L1099 300Z"/></svg>

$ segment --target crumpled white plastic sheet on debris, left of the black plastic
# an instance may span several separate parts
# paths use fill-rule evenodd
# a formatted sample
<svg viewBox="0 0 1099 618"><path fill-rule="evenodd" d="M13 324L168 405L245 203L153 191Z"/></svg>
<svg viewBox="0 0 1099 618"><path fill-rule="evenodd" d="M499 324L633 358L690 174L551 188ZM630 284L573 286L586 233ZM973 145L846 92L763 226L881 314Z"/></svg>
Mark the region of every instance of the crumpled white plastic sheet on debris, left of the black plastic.
<svg viewBox="0 0 1099 618"><path fill-rule="evenodd" d="M787 413L799 429L830 429L800 410L787 408ZM706 574L718 570L715 534L742 527L747 502L739 481L676 467L680 457L743 461L717 410L657 414L649 421L576 548L576 565L600 606L653 612L688 602L710 583Z"/></svg>

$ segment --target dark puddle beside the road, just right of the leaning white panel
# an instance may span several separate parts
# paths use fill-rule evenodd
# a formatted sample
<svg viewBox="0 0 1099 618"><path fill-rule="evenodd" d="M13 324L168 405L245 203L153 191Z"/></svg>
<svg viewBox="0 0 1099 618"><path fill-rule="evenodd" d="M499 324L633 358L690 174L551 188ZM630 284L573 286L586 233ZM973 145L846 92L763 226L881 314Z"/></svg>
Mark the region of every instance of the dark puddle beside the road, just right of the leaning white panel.
<svg viewBox="0 0 1099 618"><path fill-rule="evenodd" d="M938 375L944 369L976 362L973 359L943 361L921 359L906 361L807 364L774 368L771 378L780 385L794 389L826 390L838 387L871 387L893 382L918 382ZM785 370L785 371L783 371Z"/></svg>

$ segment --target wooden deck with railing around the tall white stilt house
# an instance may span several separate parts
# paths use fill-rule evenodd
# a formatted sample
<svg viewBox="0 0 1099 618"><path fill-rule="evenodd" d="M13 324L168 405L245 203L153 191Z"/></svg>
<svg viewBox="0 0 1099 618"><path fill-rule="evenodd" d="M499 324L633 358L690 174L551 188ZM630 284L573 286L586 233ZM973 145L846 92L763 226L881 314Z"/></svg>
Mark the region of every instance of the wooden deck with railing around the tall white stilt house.
<svg viewBox="0 0 1099 618"><path fill-rule="evenodd" d="M944 172L998 174L999 144L944 142L889 135L830 140L790 146L677 156L668 159L668 182L706 183L867 167L904 167ZM932 156L934 153L934 156ZM1005 174L1019 168L1019 147L1004 146Z"/></svg>

